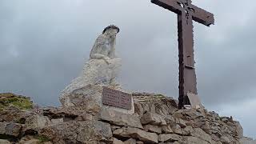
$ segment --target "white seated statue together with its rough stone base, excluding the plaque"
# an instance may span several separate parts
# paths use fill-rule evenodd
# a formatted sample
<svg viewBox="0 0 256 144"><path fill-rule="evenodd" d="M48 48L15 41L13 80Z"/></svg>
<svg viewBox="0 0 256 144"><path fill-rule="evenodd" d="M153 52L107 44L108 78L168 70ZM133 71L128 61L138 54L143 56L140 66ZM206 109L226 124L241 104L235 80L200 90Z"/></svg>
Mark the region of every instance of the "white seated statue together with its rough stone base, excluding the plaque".
<svg viewBox="0 0 256 144"><path fill-rule="evenodd" d="M121 70L121 59L116 58L115 55L118 32L118 26L110 25L98 36L90 51L90 59L83 67L82 73L62 90L60 95L62 106L86 106L86 110L92 109L93 111L105 107L130 114L134 113L133 102L132 110L102 105L103 86L121 90L120 85L115 81Z"/></svg>

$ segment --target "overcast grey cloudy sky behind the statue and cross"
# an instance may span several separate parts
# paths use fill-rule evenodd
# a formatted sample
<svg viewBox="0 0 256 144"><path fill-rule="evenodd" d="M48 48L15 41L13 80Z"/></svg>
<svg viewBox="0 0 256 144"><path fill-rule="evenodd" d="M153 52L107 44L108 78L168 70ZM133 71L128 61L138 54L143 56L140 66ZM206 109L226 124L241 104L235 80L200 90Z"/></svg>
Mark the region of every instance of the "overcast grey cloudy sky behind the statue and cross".
<svg viewBox="0 0 256 144"><path fill-rule="evenodd" d="M256 138L256 2L194 4L215 14L214 26L194 22L202 103L232 115L246 136ZM78 76L95 38L110 24L121 29L122 86L178 98L177 15L150 0L1 0L0 92L58 106L58 94Z"/></svg>

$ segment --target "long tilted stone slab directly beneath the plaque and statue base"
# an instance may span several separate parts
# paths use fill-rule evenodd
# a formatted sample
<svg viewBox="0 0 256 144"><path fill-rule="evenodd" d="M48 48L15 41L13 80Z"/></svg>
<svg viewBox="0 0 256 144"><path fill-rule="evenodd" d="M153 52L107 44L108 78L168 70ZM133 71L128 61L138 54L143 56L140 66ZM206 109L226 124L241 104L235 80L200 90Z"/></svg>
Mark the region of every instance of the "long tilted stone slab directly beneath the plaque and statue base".
<svg viewBox="0 0 256 144"><path fill-rule="evenodd" d="M132 126L141 128L142 123L136 115L124 114L115 110L102 109L99 118L103 121L110 122L111 124L118 126Z"/></svg>

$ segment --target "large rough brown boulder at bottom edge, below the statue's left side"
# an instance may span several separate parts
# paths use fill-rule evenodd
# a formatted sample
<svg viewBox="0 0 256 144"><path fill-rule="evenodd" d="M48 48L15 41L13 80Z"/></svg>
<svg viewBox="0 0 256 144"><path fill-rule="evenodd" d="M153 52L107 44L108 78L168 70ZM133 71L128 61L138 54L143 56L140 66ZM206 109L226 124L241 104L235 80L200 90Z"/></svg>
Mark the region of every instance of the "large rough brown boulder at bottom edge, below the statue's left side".
<svg viewBox="0 0 256 144"><path fill-rule="evenodd" d="M112 138L110 124L99 121L63 122L46 126L39 134L50 138L54 143L110 142Z"/></svg>

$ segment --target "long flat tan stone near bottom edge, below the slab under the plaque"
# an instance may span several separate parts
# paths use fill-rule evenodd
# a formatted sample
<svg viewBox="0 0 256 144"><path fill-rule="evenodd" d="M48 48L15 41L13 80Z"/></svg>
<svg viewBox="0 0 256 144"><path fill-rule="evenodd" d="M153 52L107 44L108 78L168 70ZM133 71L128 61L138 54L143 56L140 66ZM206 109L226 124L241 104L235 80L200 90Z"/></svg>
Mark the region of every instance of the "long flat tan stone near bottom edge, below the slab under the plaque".
<svg viewBox="0 0 256 144"><path fill-rule="evenodd" d="M114 130L113 134L117 138L134 138L139 139L142 142L158 142L158 134L146 132L145 130L140 130L133 127Z"/></svg>

